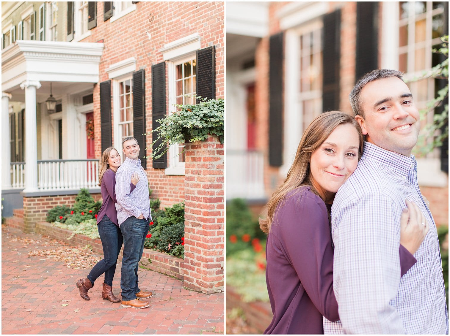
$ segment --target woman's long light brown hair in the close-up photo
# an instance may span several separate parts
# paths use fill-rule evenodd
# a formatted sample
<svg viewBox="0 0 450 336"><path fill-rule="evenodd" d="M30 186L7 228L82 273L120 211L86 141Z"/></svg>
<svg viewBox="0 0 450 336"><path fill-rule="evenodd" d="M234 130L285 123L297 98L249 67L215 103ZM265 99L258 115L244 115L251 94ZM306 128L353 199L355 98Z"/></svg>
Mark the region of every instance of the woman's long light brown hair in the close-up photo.
<svg viewBox="0 0 450 336"><path fill-rule="evenodd" d="M360 125L351 115L341 111L331 111L322 113L316 117L308 128L306 128L305 133L303 133L302 140L300 140L300 143L298 144L294 162L291 168L289 168L288 176L283 184L275 190L272 198L266 205L266 218L259 219L259 226L263 232L270 232L275 210L289 191L299 186L310 186L312 192L324 199L324 195L321 195L323 194L323 190L316 190L311 181L311 154L318 149L334 129L341 124L351 124L358 131L360 136L358 160L361 158L364 146L364 136L361 132Z"/></svg>

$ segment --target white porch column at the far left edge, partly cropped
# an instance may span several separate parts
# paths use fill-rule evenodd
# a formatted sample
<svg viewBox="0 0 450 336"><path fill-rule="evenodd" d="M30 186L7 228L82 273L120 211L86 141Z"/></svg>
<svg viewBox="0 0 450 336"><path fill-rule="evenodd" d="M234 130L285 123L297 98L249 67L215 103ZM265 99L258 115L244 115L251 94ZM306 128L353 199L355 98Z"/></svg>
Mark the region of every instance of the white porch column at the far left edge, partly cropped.
<svg viewBox="0 0 450 336"><path fill-rule="evenodd" d="M10 160L11 149L9 148L9 99L11 93L1 93L1 188L11 189Z"/></svg>

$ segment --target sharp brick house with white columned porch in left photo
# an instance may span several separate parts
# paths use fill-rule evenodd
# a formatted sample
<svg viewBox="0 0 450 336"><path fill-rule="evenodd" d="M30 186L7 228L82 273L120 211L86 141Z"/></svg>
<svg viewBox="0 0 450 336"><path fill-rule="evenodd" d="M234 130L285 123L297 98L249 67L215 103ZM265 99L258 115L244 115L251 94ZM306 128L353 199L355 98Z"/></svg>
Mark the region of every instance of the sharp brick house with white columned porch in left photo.
<svg viewBox="0 0 450 336"><path fill-rule="evenodd" d="M185 94L224 97L223 2L10 2L2 33L6 216L23 197L48 202L38 220L53 197L98 193L104 148L134 136L148 156L156 120ZM184 200L182 149L141 159L162 207Z"/></svg>

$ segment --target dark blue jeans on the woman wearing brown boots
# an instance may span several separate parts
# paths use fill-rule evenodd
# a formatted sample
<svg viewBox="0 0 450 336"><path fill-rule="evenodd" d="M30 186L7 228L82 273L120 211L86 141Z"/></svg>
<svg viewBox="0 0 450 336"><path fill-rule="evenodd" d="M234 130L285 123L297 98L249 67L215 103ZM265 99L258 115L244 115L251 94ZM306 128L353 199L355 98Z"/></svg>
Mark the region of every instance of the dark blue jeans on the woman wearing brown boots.
<svg viewBox="0 0 450 336"><path fill-rule="evenodd" d="M122 248L123 238L120 228L114 224L108 216L104 215L103 219L97 225L100 239L103 246L103 259L100 260L89 272L87 278L94 286L94 281L105 274L105 283L112 286L112 279L116 272L117 256L119 256Z"/></svg>

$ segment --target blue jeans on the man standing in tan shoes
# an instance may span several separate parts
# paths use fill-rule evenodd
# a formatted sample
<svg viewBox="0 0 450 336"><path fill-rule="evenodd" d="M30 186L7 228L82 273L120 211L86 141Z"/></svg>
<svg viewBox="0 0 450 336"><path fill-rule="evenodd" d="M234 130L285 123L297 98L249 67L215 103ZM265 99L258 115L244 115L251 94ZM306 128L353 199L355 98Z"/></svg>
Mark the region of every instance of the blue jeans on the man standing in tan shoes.
<svg viewBox="0 0 450 336"><path fill-rule="evenodd" d="M145 236L148 233L147 219L128 217L121 225L123 236L123 258L120 287L122 288L122 301L136 298L140 292L138 282L139 260L144 252Z"/></svg>

